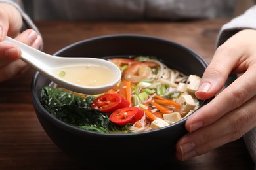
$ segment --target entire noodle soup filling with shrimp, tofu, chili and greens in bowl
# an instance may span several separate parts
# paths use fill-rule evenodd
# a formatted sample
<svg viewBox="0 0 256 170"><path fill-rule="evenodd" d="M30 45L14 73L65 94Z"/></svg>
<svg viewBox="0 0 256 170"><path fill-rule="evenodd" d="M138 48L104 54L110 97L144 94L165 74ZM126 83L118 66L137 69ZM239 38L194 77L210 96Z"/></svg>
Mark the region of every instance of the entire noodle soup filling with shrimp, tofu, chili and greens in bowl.
<svg viewBox="0 0 256 170"><path fill-rule="evenodd" d="M99 133L159 129L199 107L194 95L201 81L199 76L184 75L146 56L108 60L122 71L119 84L111 90L87 95L55 84L43 88L43 107L66 124Z"/></svg>

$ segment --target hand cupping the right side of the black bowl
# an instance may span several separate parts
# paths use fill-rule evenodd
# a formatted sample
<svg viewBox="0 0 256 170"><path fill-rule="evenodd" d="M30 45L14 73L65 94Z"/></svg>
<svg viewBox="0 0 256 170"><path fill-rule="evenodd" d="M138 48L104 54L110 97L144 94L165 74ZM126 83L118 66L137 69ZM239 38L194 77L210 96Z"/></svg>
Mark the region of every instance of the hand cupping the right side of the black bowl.
<svg viewBox="0 0 256 170"><path fill-rule="evenodd" d="M196 97L216 97L186 121L177 158L188 160L239 139L256 126L256 30L245 29L217 48ZM230 73L243 73L221 89ZM221 92L220 92L221 91Z"/></svg>

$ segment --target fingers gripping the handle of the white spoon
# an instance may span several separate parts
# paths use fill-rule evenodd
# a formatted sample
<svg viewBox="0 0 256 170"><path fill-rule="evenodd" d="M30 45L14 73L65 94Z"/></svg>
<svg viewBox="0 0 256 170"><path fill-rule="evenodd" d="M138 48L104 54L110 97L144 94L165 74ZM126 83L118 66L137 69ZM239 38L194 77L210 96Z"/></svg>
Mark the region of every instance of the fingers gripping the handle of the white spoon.
<svg viewBox="0 0 256 170"><path fill-rule="evenodd" d="M20 49L2 42L5 36L15 37L34 48L41 46L42 39L35 31L28 29L20 33L22 16L8 3L0 3L0 82L26 71L26 63L20 59Z"/></svg>

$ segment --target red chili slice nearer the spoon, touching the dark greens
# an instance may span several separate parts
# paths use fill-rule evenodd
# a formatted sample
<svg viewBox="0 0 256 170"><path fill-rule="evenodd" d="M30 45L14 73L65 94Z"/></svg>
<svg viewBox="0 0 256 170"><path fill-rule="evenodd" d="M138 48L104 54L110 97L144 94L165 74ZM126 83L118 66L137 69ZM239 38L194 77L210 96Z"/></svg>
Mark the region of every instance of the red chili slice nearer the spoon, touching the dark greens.
<svg viewBox="0 0 256 170"><path fill-rule="evenodd" d="M123 107L129 107L130 103L121 95L118 94L104 94L97 97L93 104L91 105L91 109L98 109L102 112L106 112L108 114L112 114L117 109L121 109Z"/></svg>

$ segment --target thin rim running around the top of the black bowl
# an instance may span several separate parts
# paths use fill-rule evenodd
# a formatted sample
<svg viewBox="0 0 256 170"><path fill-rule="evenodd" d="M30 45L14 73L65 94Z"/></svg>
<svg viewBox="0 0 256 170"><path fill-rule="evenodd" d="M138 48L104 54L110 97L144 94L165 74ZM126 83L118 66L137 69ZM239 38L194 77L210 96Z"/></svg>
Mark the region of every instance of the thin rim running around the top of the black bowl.
<svg viewBox="0 0 256 170"><path fill-rule="evenodd" d="M156 36L151 36L151 35L142 35L142 34L112 34L112 35L102 35L102 36L98 36L98 37L84 39L84 40L81 40L81 41L74 42L74 43L58 50L53 55L56 56L56 54L59 54L60 52L63 52L65 50L67 50L68 48L71 48L72 46L77 46L77 45L79 45L81 43L84 43L84 42L96 41L96 40L99 40L99 39L116 38L116 37L119 37L119 38L120 37L145 38L145 39L154 39L155 41L164 41L164 42L167 42L167 43L171 43L175 46L179 46L179 48L182 48L182 50L186 50L187 52L192 54L194 57L196 57L196 59L198 59L198 61L200 61L200 63L202 63L202 65L205 68L208 65L208 63L205 59L203 59L201 56L199 56L198 54L196 54L194 51L190 50L186 46L183 46L182 44L179 44L177 42L173 42L173 41L168 40L168 39L163 39L161 37L156 37ZM194 112L196 112L198 109L200 109L200 107L202 107L202 106L198 107L198 109L194 110L194 112L192 114L186 116L185 118L182 118L182 120L179 120L178 122L170 124L169 126L161 127L160 129L154 129L154 130L150 130L150 131L142 131L142 132L139 132L139 133L98 133L98 132L95 132L95 131L88 131L88 130L85 130L85 129L80 129L79 127L75 127L75 126L71 126L69 124L66 124L65 122L62 122L62 120L59 120L58 118L55 118L52 114L47 112L47 110L43 107L43 105L41 105L41 102L39 101L39 96L37 95L37 92L36 92L35 84L37 83L37 78L39 76L41 76L41 73L36 71L35 74L32 77L32 83L31 83L32 103L33 103L34 107L41 110L41 112L42 112L41 115L44 116L50 122L54 123L56 126L62 128L62 129L65 129L66 131L72 131L72 133L77 133L77 134L80 134L80 135L83 135L85 133L90 133L91 135L102 135L102 136L109 136L109 137L111 137L111 136L113 136L113 137L127 137L127 135L129 135L129 136L134 136L134 135L138 136L138 135L145 135L145 134L148 134L148 133L161 133L161 131L163 131L164 129L172 128L172 127L176 126L177 124L179 124L181 126L184 126L186 120L192 114L194 114ZM207 103L209 103L209 101L211 101L211 99L203 100L202 105L206 105ZM36 114L39 114L39 113L36 112Z"/></svg>

